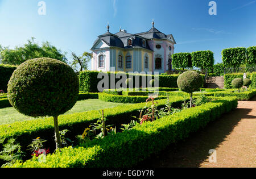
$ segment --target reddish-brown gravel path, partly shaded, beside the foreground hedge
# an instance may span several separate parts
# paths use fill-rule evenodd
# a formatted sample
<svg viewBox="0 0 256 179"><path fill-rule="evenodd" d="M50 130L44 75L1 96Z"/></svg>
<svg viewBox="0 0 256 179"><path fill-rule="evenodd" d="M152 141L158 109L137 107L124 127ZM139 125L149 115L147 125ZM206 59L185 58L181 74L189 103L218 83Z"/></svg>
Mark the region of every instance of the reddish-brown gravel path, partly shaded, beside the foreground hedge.
<svg viewBox="0 0 256 179"><path fill-rule="evenodd" d="M209 150L217 163L209 163ZM137 167L256 167L256 97Z"/></svg>

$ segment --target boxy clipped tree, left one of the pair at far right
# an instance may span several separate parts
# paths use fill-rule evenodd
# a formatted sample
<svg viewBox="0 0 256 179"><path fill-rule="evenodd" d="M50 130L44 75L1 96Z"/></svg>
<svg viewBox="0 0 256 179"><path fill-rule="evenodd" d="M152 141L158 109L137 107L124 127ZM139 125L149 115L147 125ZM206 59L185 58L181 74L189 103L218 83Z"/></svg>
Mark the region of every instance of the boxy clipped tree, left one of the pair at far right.
<svg viewBox="0 0 256 179"><path fill-rule="evenodd" d="M222 51L222 61L224 66L236 68L246 62L246 48L228 48Z"/></svg>

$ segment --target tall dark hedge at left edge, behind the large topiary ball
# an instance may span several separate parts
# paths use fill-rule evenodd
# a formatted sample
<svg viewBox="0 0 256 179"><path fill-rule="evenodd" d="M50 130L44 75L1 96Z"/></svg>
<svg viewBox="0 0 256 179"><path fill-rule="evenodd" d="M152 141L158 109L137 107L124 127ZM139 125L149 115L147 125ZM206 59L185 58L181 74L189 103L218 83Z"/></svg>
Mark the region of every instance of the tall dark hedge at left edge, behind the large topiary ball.
<svg viewBox="0 0 256 179"><path fill-rule="evenodd" d="M7 93L7 84L15 69L16 66L0 65L0 90L5 91L5 93Z"/></svg>

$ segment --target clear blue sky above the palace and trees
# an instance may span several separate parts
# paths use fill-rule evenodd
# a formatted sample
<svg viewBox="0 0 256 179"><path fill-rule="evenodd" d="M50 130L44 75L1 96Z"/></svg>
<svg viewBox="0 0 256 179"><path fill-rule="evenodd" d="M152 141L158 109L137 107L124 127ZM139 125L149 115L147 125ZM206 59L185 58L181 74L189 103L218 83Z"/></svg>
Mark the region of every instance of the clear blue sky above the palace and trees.
<svg viewBox="0 0 256 179"><path fill-rule="evenodd" d="M22 45L31 37L49 41L62 51L90 51L98 35L119 31L135 34L155 27L173 34L175 53L210 50L215 63L230 47L256 45L256 1L219 0L217 15L209 15L210 0L44 0L46 15L38 14L37 0L0 0L0 44Z"/></svg>

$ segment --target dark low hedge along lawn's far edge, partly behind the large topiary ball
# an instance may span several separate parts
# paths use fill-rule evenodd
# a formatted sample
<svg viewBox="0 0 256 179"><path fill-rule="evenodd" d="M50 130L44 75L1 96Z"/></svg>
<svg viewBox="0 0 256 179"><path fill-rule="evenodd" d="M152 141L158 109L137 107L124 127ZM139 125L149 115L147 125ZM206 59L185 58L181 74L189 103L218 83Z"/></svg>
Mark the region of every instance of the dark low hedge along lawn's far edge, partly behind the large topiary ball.
<svg viewBox="0 0 256 179"><path fill-rule="evenodd" d="M78 101L85 99L98 99L98 93L79 93ZM9 99L7 98L7 95L5 96L5 98L0 97L0 109L5 107L13 107L11 106Z"/></svg>

